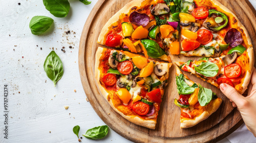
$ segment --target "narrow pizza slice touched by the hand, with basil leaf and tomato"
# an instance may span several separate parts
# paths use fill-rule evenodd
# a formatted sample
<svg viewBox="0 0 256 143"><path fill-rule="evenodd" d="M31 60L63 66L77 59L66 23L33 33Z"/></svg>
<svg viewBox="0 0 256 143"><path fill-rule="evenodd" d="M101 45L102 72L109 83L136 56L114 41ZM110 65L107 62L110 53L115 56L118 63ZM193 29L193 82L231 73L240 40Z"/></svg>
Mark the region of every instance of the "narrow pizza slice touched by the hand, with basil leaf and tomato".
<svg viewBox="0 0 256 143"><path fill-rule="evenodd" d="M219 88L226 83L243 93L250 82L254 58L253 49L238 46L231 49L228 55L218 58L202 58L187 62L175 62L182 70L196 75L204 81Z"/></svg>

